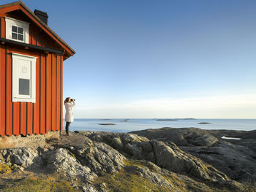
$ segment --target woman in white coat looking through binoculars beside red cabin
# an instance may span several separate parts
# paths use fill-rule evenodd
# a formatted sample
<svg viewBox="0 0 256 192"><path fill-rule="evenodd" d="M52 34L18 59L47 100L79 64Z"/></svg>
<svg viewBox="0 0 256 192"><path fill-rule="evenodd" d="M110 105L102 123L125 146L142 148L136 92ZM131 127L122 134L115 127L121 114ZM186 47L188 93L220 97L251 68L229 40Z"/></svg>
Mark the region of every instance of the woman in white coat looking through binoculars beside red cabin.
<svg viewBox="0 0 256 192"><path fill-rule="evenodd" d="M74 121L73 107L75 107L75 99L70 99L70 97L67 97L64 101L64 105L66 109L66 115L65 115L66 134L69 135L70 123Z"/></svg>

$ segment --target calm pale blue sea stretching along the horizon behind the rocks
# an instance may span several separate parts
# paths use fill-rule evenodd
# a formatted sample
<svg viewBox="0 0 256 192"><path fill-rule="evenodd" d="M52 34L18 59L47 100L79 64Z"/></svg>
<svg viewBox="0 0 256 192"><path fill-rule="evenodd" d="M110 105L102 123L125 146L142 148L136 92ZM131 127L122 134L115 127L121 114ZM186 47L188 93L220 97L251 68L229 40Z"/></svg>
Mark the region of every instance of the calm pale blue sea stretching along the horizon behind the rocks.
<svg viewBox="0 0 256 192"><path fill-rule="evenodd" d="M127 120L124 122L123 120ZM211 124L197 124L208 122ZM102 126L99 123L114 123L112 126ZM66 125L65 122L63 124ZM233 129L233 130L255 130L256 119L195 119L195 120L176 120L159 121L156 119L75 119L71 123L71 131L113 131L129 132L147 128L184 128L197 127L203 129Z"/></svg>

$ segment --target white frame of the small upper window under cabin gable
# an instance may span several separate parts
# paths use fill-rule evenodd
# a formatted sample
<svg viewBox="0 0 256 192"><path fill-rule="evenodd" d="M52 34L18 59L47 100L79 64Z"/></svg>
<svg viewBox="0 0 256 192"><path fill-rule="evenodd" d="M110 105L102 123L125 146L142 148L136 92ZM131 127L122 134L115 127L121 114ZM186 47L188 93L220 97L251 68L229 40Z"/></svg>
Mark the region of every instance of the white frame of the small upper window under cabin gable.
<svg viewBox="0 0 256 192"><path fill-rule="evenodd" d="M13 40L16 42L29 43L29 25L30 25L30 23L27 23L25 21L5 17L5 37L6 37L6 39L10 39L10 40ZM20 41L18 39L12 39L12 26L17 26L17 27L23 28L23 35L24 35L23 41Z"/></svg>

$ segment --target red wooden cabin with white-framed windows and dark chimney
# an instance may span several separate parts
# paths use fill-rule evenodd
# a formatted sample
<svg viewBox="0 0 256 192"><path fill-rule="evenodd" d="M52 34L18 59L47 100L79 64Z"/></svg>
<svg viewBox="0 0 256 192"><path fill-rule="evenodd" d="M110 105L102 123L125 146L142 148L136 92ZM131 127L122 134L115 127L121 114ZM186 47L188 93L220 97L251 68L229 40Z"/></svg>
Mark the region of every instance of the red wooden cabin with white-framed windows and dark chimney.
<svg viewBox="0 0 256 192"><path fill-rule="evenodd" d="M0 136L62 131L63 61L75 54L21 1L0 6Z"/></svg>

